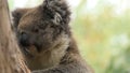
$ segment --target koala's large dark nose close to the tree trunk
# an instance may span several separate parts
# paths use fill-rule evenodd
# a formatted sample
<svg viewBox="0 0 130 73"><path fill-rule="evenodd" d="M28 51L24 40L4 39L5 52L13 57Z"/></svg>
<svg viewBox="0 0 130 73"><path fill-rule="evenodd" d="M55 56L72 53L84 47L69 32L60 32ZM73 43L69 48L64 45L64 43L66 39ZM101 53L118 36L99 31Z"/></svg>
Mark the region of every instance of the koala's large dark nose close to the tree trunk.
<svg viewBox="0 0 130 73"><path fill-rule="evenodd" d="M27 33L25 33L25 32L22 32L21 34L20 34L20 43L21 43L21 45L22 46L28 46L29 45L29 43L28 43L28 34Z"/></svg>

